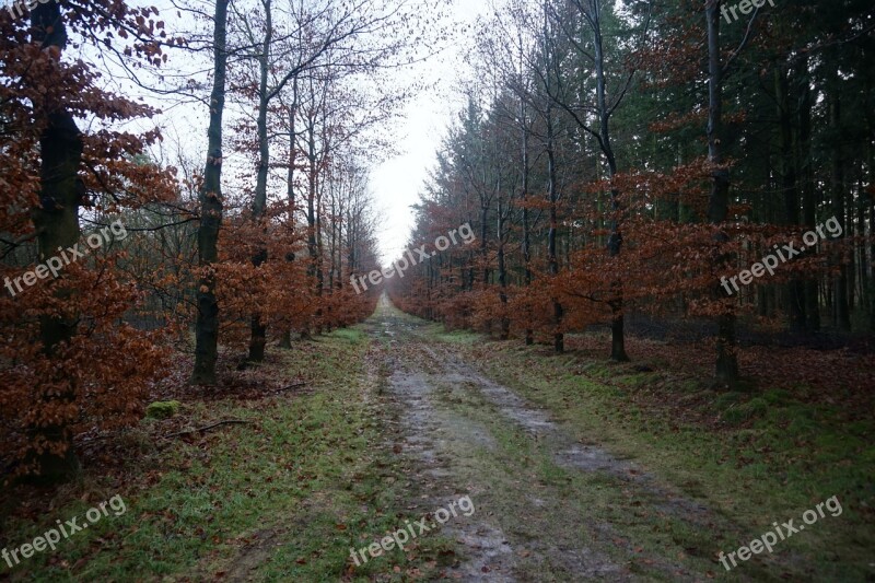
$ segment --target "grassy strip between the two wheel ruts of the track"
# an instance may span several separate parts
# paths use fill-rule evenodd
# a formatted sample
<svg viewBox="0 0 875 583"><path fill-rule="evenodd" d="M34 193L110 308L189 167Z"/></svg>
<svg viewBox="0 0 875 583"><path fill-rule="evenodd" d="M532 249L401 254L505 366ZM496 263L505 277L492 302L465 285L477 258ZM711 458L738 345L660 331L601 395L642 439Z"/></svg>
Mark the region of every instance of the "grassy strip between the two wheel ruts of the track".
<svg viewBox="0 0 875 583"><path fill-rule="evenodd" d="M474 385L442 387L438 395L439 408L486 428L494 439L493 448L454 453L464 460L467 479L489 476L478 503L490 510L517 547L525 549L530 541L562 548L586 540L587 548L609 563L656 581L676 580L677 564L693 573L713 570L710 557L701 556L713 540L712 529L654 511L663 502L658 497L617 476L558 465L548 443L510 422ZM534 499L557 505L539 511ZM564 582L581 576L560 564L526 560L518 560L516 569L522 580Z"/></svg>

